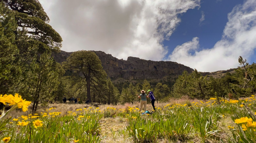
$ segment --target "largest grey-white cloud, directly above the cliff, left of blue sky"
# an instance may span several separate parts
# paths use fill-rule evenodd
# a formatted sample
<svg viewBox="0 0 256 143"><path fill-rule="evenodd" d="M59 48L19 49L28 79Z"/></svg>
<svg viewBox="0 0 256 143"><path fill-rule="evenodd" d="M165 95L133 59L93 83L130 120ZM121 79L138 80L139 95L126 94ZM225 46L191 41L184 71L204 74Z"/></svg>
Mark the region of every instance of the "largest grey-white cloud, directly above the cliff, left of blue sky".
<svg viewBox="0 0 256 143"><path fill-rule="evenodd" d="M162 60L168 39L200 0L39 0L65 51L101 50L117 58Z"/></svg>

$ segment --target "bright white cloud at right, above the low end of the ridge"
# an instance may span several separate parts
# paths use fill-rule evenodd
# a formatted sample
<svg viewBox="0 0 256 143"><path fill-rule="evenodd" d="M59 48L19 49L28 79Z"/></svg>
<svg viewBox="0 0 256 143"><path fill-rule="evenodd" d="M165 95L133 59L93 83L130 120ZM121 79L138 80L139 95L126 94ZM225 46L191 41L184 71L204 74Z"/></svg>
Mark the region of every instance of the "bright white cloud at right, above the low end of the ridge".
<svg viewBox="0 0 256 143"><path fill-rule="evenodd" d="M221 40L213 48L198 50L199 39L179 45L168 60L182 63L199 71L216 71L236 68L238 56L249 58L256 48L256 3L247 0L228 14L228 23ZM191 52L194 52L191 54Z"/></svg>

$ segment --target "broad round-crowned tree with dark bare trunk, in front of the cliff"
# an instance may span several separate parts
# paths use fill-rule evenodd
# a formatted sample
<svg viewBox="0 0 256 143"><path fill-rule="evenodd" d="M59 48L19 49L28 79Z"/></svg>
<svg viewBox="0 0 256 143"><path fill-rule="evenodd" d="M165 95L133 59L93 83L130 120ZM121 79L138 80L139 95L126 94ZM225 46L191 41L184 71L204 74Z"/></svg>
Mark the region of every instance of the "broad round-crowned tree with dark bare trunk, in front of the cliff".
<svg viewBox="0 0 256 143"><path fill-rule="evenodd" d="M120 93L111 80L107 79L101 61L94 52L85 50L74 52L68 57L67 62L62 64L66 70L72 70L77 74L65 78L69 81L66 82L67 97L84 97L83 100L88 98L89 102L104 104L118 103Z"/></svg>

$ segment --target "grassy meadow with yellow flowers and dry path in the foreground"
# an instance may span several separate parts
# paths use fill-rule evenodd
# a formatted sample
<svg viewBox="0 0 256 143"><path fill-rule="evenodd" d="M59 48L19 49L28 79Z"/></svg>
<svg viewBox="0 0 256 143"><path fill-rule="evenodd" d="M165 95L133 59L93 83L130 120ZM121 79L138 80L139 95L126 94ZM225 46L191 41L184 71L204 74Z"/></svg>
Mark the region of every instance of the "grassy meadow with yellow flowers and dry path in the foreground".
<svg viewBox="0 0 256 143"><path fill-rule="evenodd" d="M153 114L138 113L139 103L49 104L31 114L19 95L0 102L12 106L0 117L1 143L256 143L254 95L172 100L156 104Z"/></svg>

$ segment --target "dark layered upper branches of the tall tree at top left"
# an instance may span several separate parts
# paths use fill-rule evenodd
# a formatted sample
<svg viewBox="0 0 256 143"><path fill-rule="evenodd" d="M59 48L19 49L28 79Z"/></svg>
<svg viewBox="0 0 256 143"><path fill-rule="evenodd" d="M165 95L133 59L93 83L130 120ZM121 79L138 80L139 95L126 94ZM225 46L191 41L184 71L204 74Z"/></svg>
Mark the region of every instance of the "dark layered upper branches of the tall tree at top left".
<svg viewBox="0 0 256 143"><path fill-rule="evenodd" d="M50 19L38 0L1 0L15 12L18 26L29 29L28 33L40 43L40 50L60 50L62 38L48 24Z"/></svg>

